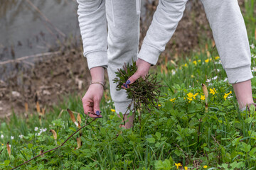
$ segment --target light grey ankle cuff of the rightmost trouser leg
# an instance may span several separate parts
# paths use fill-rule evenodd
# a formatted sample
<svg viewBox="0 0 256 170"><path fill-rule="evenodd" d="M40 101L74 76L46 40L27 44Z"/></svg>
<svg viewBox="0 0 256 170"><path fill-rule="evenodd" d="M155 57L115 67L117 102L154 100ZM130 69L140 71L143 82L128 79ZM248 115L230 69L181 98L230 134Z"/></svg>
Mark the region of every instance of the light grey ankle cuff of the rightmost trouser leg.
<svg viewBox="0 0 256 170"><path fill-rule="evenodd" d="M252 79L252 71L250 69L250 65L232 69L225 69L225 72L228 76L228 82L230 84L239 83L242 81L247 81Z"/></svg>

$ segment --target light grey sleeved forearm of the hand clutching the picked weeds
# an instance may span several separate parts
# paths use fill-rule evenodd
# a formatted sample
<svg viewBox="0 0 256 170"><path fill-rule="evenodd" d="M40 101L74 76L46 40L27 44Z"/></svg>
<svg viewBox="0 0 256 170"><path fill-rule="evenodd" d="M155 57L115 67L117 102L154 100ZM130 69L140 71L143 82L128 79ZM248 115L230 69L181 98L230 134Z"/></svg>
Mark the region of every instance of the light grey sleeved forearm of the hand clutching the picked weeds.
<svg viewBox="0 0 256 170"><path fill-rule="evenodd" d="M150 64L156 64L159 55L165 50L178 22L183 16L187 0L161 0L146 33L138 57Z"/></svg>

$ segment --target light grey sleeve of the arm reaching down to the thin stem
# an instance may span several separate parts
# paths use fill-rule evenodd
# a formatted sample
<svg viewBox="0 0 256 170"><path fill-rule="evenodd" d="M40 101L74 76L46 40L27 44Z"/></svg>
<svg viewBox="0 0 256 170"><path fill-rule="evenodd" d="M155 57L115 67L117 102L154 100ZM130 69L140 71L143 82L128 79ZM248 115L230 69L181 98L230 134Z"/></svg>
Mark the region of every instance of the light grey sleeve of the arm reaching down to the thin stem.
<svg viewBox="0 0 256 170"><path fill-rule="evenodd" d="M107 19L105 0L77 0L83 54L89 69L107 67Z"/></svg>

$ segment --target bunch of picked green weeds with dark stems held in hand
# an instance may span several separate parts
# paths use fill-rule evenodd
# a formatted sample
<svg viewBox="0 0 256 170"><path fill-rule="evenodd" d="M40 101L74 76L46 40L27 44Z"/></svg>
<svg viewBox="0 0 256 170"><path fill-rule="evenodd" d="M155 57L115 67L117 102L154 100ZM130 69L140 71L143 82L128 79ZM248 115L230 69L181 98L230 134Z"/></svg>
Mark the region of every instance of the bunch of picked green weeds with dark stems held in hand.
<svg viewBox="0 0 256 170"><path fill-rule="evenodd" d="M132 64L125 64L122 69L118 69L115 72L116 78L113 79L114 83L117 83L117 91L122 89L124 82L132 77L137 71L136 62ZM127 111L124 114L129 114L129 111L136 113L146 109L149 113L153 113L152 108L159 108L159 96L161 96L160 81L156 79L157 74L146 74L145 77L140 77L133 84L129 84L129 88L126 89L127 98L132 99L132 102L127 107ZM133 106L133 108L132 108ZM139 115L140 118L140 115Z"/></svg>

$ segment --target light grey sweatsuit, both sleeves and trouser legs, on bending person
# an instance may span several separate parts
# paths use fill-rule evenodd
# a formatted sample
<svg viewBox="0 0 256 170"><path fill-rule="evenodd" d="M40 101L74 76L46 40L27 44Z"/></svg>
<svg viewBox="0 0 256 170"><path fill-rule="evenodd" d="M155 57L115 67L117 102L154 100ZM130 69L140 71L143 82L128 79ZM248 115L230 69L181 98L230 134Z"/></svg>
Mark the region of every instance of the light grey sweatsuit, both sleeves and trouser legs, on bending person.
<svg viewBox="0 0 256 170"><path fill-rule="evenodd" d="M78 0L78 15L89 68L107 65L117 113L130 103L113 84L118 68L137 57L156 64L183 16L187 0L159 0L142 48L139 46L139 0ZM230 84L252 79L250 47L237 0L201 0ZM137 5L136 5L137 4ZM107 18L107 22L105 22ZM108 33L106 28L108 28ZM90 30L90 31L88 31ZM107 37L107 38L105 38ZM107 40L106 40L107 39ZM107 43L107 44L106 44ZM108 48L107 48L108 47ZM107 56L107 57L106 57Z"/></svg>

